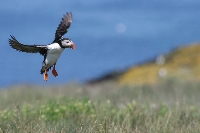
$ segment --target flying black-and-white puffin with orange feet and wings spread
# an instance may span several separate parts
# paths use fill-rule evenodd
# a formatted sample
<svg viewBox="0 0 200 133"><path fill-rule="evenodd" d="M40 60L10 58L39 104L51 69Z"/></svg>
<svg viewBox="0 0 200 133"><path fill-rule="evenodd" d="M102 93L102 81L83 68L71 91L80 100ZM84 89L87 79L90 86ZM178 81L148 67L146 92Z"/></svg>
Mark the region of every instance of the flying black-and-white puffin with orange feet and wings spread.
<svg viewBox="0 0 200 133"><path fill-rule="evenodd" d="M72 13L66 12L60 24L55 32L55 38L51 44L48 45L27 45L20 43L13 35L10 35L8 39L10 46L20 52L26 53L39 53L44 57L42 62L41 74L44 74L44 81L48 80L48 71L53 67L52 74L56 77L58 73L56 71L56 63L62 52L66 49L76 49L76 45L70 38L64 38L63 36L68 32L68 29L72 23Z"/></svg>

